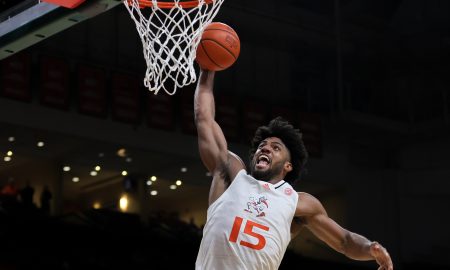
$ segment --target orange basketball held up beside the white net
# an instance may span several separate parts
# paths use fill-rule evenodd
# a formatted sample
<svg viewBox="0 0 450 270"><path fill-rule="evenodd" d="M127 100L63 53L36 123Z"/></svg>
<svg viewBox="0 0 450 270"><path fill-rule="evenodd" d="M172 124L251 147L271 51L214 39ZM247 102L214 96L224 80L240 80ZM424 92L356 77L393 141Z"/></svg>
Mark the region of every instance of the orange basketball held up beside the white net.
<svg viewBox="0 0 450 270"><path fill-rule="evenodd" d="M213 22L203 31L195 60L202 69L219 71L233 65L240 51L241 42L233 28Z"/></svg>

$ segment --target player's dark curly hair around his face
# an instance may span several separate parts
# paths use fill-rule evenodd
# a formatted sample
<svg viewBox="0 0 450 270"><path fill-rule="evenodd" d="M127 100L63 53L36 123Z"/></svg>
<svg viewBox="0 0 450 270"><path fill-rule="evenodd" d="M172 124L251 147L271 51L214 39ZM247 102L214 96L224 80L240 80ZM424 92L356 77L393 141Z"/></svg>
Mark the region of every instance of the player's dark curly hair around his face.
<svg viewBox="0 0 450 270"><path fill-rule="evenodd" d="M289 149L292 171L286 174L284 180L294 185L304 172L308 160L308 152L302 140L302 133L282 117L276 117L269 122L269 125L261 126L256 130L251 143L250 160L253 160L259 144L269 137L279 138Z"/></svg>

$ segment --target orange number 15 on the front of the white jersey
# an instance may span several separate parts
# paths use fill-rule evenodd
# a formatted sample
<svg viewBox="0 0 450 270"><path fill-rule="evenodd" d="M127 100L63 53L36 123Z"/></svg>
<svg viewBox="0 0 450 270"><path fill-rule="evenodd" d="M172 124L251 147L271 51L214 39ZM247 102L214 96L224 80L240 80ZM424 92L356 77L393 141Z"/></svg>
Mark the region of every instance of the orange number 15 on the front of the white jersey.
<svg viewBox="0 0 450 270"><path fill-rule="evenodd" d="M231 229L230 238L228 239L228 240L230 240L230 242L233 242L233 243L237 242L237 238L238 238L241 226L242 226L242 222L244 222L243 218L241 218L241 217L235 217L234 218L233 228ZM258 242L256 244L252 244L252 243L249 243L249 242L241 240L239 242L239 244L241 246L249 247L249 248L256 249L256 250L263 249L264 246L266 245L266 238L264 238L263 235L254 232L253 231L253 227L262 229L264 231L269 231L269 227L264 226L264 225L259 224L259 223L256 223L256 222L251 221L251 220L247 220L245 222L244 234L247 234L247 235L250 235L250 236L256 238L258 240Z"/></svg>

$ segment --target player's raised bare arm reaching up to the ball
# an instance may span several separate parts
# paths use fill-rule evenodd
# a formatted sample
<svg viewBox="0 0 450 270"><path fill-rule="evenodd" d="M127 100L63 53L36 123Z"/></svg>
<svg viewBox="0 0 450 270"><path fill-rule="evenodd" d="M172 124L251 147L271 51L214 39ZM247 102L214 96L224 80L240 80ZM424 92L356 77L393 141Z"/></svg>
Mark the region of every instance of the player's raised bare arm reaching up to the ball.
<svg viewBox="0 0 450 270"><path fill-rule="evenodd" d="M227 141L219 124L215 121L213 71L201 70L194 96L195 124L198 148L205 167L213 174L210 203L215 201L228 187L239 170L245 166L238 156L228 151Z"/></svg>

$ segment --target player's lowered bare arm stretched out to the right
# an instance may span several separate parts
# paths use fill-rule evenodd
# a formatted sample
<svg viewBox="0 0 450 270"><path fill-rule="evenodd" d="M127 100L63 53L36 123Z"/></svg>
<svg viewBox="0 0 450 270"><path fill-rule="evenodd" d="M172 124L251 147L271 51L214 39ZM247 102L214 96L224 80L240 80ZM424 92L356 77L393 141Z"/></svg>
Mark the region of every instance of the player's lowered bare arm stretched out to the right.
<svg viewBox="0 0 450 270"><path fill-rule="evenodd" d="M334 250L354 260L375 260L379 270L394 269L391 257L382 245L342 228L328 217L320 201L310 194L299 194L296 215L315 236Z"/></svg>

